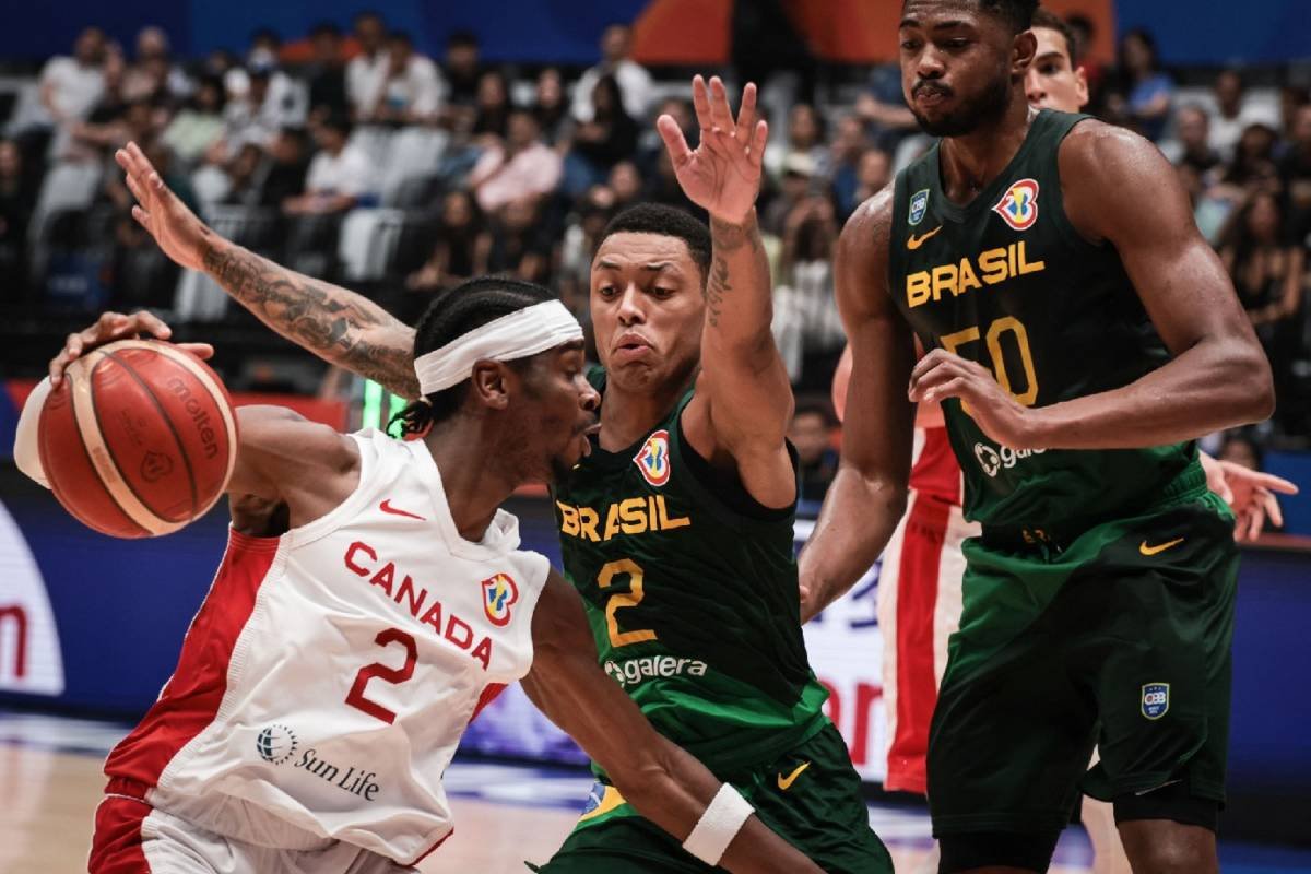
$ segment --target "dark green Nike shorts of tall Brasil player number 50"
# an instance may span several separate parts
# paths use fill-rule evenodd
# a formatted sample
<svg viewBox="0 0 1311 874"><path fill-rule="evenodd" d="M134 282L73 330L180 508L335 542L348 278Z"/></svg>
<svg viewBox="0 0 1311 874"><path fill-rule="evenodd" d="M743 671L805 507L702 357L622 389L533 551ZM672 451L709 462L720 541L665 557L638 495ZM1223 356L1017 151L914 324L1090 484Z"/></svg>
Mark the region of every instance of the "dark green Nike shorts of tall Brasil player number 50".
<svg viewBox="0 0 1311 874"><path fill-rule="evenodd" d="M1223 803L1232 524L1197 490L1068 542L986 529L965 544L929 730L935 835L1054 833L1083 793L1181 784Z"/></svg>

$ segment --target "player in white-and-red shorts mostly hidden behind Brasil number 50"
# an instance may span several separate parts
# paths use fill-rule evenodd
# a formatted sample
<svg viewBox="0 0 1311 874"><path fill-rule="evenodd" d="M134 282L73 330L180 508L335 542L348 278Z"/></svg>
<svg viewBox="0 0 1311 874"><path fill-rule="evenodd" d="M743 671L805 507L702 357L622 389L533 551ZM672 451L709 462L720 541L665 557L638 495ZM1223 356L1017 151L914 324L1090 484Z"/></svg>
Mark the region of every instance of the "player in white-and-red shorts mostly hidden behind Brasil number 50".
<svg viewBox="0 0 1311 874"><path fill-rule="evenodd" d="M1033 16L1037 52L1025 89L1038 109L1078 113L1088 102L1084 68L1076 63L1074 35L1051 12ZM832 400L839 415L851 377L851 350L838 364ZM1230 502L1239 540L1255 539L1266 515L1280 523L1272 491L1297 487L1269 474L1226 464L1202 453L1210 487ZM979 535L962 514L961 468L952 453L943 408L920 404L915 419L914 459L906 515L884 550L878 577L878 625L884 634L884 702L888 718L888 778L885 789L926 793L928 727L937 687L947 667L947 639L961 620L961 545ZM1129 874L1112 806L1084 798L1083 824L1093 844L1095 874ZM936 853L924 871L937 870Z"/></svg>

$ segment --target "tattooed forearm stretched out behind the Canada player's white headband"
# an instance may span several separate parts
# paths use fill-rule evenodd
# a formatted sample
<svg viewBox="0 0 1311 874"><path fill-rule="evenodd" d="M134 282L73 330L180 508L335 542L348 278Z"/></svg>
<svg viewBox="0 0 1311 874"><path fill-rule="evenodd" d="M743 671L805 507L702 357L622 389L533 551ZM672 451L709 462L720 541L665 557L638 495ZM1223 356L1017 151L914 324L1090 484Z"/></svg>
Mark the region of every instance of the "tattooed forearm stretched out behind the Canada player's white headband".
<svg viewBox="0 0 1311 874"><path fill-rule="evenodd" d="M418 396L414 332L371 300L231 244L211 245L205 269L260 321L298 346L397 394Z"/></svg>

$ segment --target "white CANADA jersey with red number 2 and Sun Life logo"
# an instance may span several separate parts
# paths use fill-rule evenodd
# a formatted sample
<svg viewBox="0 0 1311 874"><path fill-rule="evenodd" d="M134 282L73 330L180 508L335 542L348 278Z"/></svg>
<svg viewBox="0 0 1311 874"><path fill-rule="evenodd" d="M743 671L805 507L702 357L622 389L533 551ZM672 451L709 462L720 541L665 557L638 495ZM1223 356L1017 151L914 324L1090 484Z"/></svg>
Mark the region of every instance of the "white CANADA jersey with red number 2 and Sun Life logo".
<svg viewBox="0 0 1311 874"><path fill-rule="evenodd" d="M549 563L505 511L461 539L422 442L353 436L341 506L231 533L176 674L105 772L165 810L244 799L409 865L451 832L442 774L465 726L532 663Z"/></svg>

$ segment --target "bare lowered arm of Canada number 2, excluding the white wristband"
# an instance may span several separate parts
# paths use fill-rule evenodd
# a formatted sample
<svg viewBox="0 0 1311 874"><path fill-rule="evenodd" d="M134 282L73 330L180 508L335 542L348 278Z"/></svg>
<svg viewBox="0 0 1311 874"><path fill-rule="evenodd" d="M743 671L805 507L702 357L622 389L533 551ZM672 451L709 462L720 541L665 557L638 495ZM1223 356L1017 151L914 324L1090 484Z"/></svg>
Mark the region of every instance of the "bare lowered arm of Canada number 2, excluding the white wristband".
<svg viewBox="0 0 1311 874"><path fill-rule="evenodd" d="M555 570L532 616L532 670L523 689L552 722L597 761L640 814L679 841L687 839L720 781L661 736L597 664L582 599ZM729 844L720 866L741 874L819 874L819 867L755 815Z"/></svg>

